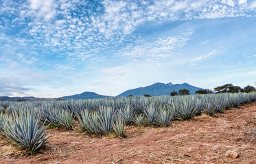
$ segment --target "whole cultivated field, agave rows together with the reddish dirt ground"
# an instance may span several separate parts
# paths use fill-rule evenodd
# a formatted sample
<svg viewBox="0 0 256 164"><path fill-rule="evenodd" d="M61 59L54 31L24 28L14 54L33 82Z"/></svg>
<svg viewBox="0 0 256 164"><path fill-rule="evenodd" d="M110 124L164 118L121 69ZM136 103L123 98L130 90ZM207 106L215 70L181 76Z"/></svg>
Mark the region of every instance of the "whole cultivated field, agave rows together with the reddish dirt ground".
<svg viewBox="0 0 256 164"><path fill-rule="evenodd" d="M1 102L0 163L255 163L255 100L251 93Z"/></svg>

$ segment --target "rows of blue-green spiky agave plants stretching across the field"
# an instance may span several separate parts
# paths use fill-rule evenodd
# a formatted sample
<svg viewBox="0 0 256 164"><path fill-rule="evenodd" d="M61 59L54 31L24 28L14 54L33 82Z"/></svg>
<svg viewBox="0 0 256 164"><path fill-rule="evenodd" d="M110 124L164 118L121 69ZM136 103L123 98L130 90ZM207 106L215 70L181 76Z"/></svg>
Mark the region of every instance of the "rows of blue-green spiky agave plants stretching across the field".
<svg viewBox="0 0 256 164"><path fill-rule="evenodd" d="M0 135L34 154L47 144L47 128L80 131L91 135L115 133L125 137L126 126L169 126L172 120L188 120L202 113L214 115L256 100L256 93L208 94L0 102Z"/></svg>

